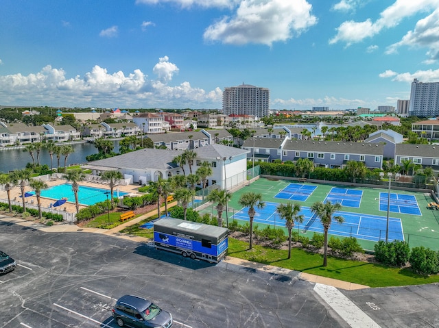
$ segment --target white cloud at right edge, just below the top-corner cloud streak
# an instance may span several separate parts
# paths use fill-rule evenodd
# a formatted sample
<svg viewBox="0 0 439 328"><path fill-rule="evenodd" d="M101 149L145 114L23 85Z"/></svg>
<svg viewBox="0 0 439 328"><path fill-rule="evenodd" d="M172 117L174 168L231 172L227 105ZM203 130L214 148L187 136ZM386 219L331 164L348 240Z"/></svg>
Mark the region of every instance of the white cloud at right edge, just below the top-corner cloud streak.
<svg viewBox="0 0 439 328"><path fill-rule="evenodd" d="M397 53L399 47L428 48L429 59L425 64L433 64L439 59L439 9L420 19L414 30L408 31L401 41L390 45L385 53Z"/></svg>

